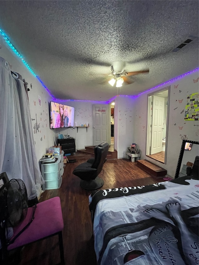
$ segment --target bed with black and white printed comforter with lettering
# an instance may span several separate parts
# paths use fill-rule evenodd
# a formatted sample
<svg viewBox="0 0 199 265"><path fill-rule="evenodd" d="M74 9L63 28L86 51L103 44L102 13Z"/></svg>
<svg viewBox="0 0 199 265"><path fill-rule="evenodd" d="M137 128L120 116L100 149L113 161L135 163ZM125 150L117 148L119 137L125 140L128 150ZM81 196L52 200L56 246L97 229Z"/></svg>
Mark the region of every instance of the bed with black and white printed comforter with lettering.
<svg viewBox="0 0 199 265"><path fill-rule="evenodd" d="M97 264L199 264L198 187L183 176L92 193Z"/></svg>

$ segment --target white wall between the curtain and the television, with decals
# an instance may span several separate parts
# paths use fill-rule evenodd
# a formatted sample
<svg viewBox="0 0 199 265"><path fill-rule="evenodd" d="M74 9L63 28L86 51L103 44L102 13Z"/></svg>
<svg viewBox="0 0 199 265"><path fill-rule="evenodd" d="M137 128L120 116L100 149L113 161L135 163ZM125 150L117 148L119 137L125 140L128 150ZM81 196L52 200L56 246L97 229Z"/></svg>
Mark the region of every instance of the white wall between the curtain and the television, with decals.
<svg viewBox="0 0 199 265"><path fill-rule="evenodd" d="M27 87L30 89L28 92L30 115L32 119L33 137L35 142L35 152L37 159L39 159L46 153L49 146L53 145L53 130L50 130L49 125L49 102L51 96L47 90L41 85L39 80L27 69L21 59L12 52L12 50L5 43L4 39L0 35L0 56L12 65L12 71L19 73L22 78L28 83ZM35 72L35 74L37 74ZM30 87L30 84L32 88ZM41 98L41 106L39 106L38 95ZM36 122L40 124L39 132L34 133L34 125ZM0 132L1 133L1 132Z"/></svg>

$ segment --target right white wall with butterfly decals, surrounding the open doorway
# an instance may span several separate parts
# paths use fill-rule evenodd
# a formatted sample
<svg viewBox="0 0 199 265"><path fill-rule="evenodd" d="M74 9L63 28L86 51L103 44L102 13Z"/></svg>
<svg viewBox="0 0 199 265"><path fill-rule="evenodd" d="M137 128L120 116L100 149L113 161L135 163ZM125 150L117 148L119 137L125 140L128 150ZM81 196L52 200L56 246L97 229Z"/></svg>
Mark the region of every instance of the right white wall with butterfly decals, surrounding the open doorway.
<svg viewBox="0 0 199 265"><path fill-rule="evenodd" d="M185 121L184 112L187 103L187 95L198 92L198 72L192 73L171 83L169 105L169 135L167 148L167 163L163 164L147 157L146 154L146 126L147 126L147 93L136 99L135 124L133 134L136 143L141 149L141 159L147 159L167 170L168 175L174 177L180 148L181 135L187 135L189 140L198 141L198 121ZM174 87L175 85L175 87ZM165 86L166 87L166 86ZM153 90L155 92L155 89ZM182 101L183 100L183 101ZM182 102L182 103L180 103ZM194 126L195 125L195 126Z"/></svg>

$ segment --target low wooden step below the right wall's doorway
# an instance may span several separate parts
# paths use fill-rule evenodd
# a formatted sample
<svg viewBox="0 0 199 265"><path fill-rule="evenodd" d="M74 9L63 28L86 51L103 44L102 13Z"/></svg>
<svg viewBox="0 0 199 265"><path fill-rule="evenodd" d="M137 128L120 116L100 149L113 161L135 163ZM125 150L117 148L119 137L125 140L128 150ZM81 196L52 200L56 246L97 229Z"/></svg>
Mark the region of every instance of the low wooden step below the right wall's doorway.
<svg viewBox="0 0 199 265"><path fill-rule="evenodd" d="M138 160L137 167L141 168L146 173L150 174L150 176L154 176L156 178L166 176L167 170L159 167L149 161L145 160Z"/></svg>

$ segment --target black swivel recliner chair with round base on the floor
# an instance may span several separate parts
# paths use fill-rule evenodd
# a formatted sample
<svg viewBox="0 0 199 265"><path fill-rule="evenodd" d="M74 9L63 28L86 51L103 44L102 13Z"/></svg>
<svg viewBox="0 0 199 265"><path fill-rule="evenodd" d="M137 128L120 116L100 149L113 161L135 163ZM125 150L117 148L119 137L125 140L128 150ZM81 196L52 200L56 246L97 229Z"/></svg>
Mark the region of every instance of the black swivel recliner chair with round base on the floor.
<svg viewBox="0 0 199 265"><path fill-rule="evenodd" d="M108 154L109 144L104 142L95 146L94 158L89 158L85 163L77 166L72 172L81 179L80 186L85 190L96 190L104 185L104 180L98 175L102 171L106 156Z"/></svg>

